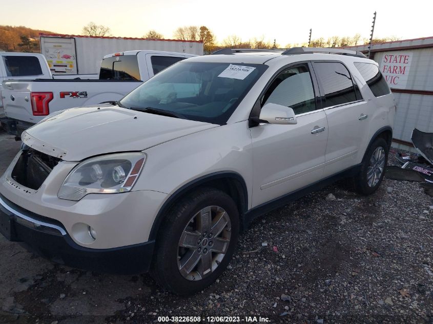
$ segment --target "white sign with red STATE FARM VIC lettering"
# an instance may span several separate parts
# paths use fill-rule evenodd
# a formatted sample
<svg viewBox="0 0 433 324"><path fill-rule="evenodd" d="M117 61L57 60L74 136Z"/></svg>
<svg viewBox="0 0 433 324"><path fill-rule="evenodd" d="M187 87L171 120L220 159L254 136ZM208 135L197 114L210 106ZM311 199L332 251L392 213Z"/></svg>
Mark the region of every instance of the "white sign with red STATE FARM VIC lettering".
<svg viewBox="0 0 433 324"><path fill-rule="evenodd" d="M405 89L409 77L412 52L384 52L380 62L380 71L389 88Z"/></svg>

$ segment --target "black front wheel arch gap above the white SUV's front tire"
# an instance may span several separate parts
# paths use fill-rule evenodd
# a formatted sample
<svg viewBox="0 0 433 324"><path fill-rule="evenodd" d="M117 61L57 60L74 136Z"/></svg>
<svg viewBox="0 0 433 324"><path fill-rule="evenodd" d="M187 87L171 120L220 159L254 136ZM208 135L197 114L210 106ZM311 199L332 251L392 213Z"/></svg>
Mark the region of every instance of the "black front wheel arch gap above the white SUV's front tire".
<svg viewBox="0 0 433 324"><path fill-rule="evenodd" d="M159 209L149 234L149 241L156 240L162 221L170 208L179 199L199 187L213 187L232 197L238 207L239 222L242 224L243 214L248 210L248 190L245 181L237 172L219 171L194 179L178 188Z"/></svg>

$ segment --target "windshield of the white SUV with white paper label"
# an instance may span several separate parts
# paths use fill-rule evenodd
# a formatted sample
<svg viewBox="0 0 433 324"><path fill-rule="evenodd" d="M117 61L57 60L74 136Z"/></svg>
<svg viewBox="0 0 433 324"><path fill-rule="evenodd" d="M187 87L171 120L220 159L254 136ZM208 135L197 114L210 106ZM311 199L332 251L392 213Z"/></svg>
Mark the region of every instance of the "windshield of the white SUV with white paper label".
<svg viewBox="0 0 433 324"><path fill-rule="evenodd" d="M183 61L143 83L121 105L163 110L181 118L225 124L267 68L264 64Z"/></svg>

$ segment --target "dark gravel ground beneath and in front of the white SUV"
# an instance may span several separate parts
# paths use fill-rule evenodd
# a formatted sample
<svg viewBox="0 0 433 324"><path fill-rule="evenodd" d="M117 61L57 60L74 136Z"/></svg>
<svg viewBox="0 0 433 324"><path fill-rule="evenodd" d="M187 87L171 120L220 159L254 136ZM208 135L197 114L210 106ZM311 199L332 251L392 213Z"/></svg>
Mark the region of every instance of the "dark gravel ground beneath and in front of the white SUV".
<svg viewBox="0 0 433 324"><path fill-rule="evenodd" d="M2 150L8 140L0 139ZM326 200L329 193L335 200ZM160 290L148 275L55 265L2 237L0 322L261 316L277 323L433 323L432 208L416 182L384 179L369 197L345 182L326 187L257 219L229 269L190 297Z"/></svg>

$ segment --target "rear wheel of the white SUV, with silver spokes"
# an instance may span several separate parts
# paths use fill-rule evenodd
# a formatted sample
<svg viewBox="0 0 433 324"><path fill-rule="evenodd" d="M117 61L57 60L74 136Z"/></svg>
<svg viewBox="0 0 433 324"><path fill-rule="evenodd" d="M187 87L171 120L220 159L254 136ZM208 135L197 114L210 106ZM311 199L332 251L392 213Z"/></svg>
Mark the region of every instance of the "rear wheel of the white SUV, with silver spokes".
<svg viewBox="0 0 433 324"><path fill-rule="evenodd" d="M370 195L379 188L388 162L388 151L388 144L383 138L376 139L368 147L361 170L354 178L355 189L361 195Z"/></svg>

